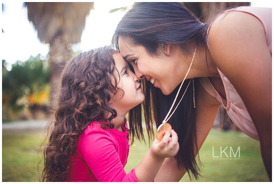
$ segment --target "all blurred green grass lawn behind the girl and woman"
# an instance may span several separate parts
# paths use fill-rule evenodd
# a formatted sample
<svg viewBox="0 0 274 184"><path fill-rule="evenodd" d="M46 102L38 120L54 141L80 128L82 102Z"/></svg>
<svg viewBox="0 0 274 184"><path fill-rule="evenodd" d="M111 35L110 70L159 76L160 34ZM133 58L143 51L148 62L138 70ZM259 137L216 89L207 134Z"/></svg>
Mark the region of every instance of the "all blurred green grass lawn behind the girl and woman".
<svg viewBox="0 0 274 184"><path fill-rule="evenodd" d="M39 181L37 173L37 147L42 140L41 132L9 132L2 131L2 181L3 182L31 182ZM220 156L220 147L229 147L234 153L240 147L240 160L213 160ZM149 145L141 144L137 140L130 148L125 171L128 173L135 168L145 155ZM223 153L222 157L226 158ZM236 158L238 158L238 153ZM201 150L200 159L202 175L198 181L269 181L260 154L260 143L239 132L221 132L212 129ZM181 181L190 181L186 174Z"/></svg>

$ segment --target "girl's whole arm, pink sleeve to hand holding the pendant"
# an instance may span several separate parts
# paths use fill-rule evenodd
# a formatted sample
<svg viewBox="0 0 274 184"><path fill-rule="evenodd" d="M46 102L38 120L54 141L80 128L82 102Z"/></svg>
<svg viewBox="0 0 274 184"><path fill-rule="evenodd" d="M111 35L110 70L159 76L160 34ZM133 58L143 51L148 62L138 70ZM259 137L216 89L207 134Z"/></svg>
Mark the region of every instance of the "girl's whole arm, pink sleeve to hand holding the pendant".
<svg viewBox="0 0 274 184"><path fill-rule="evenodd" d="M76 164L82 163L84 170L80 172L79 166L77 166L72 177L83 178L87 175L93 175L99 182L153 181L164 158L173 157L179 150L177 134L172 132L171 135L172 137L169 138L170 133L166 133L161 142L157 139L154 140L148 153L136 167L137 172L136 169L133 169L126 174L121 158L117 153L118 147L114 145L113 137L108 134L108 131L97 125L88 126L81 135L82 138L78 141L77 147L80 158L77 158L79 163L76 162Z"/></svg>

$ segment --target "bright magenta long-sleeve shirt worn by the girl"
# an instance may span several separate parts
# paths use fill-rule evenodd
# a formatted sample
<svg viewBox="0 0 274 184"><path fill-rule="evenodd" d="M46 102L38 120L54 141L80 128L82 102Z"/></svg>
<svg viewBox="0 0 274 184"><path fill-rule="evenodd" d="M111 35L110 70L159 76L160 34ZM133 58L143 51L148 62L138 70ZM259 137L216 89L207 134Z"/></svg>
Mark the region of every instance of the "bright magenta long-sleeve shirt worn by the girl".
<svg viewBox="0 0 274 184"><path fill-rule="evenodd" d="M122 129L123 132L102 129L98 122L88 125L78 139L65 181L138 182L134 169L128 174L124 170L130 145L128 132L123 126Z"/></svg>

